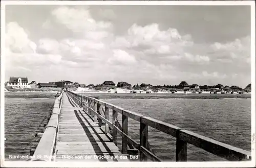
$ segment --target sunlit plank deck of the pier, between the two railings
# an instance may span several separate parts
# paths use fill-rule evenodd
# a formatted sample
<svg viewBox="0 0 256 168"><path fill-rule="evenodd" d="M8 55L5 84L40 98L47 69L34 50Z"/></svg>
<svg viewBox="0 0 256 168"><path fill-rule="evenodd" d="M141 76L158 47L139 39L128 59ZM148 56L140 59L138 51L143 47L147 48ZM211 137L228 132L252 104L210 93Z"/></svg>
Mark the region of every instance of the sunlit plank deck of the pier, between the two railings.
<svg viewBox="0 0 256 168"><path fill-rule="evenodd" d="M56 161L129 161L82 108L63 94Z"/></svg>

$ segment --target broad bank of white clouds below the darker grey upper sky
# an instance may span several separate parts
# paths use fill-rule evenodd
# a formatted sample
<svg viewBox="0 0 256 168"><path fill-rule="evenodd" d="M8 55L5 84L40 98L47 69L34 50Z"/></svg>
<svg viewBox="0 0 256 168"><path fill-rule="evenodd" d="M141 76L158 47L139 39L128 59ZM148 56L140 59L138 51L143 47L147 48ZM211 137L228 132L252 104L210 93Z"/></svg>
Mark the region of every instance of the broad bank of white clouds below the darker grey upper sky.
<svg viewBox="0 0 256 168"><path fill-rule="evenodd" d="M93 14L94 17L97 15ZM8 71L23 71L31 76L35 71L38 74L44 71L44 76L58 74L72 80L78 77L75 75L77 71L91 70L93 75L83 78L89 83L104 78L155 84L178 84L186 79L217 83L238 79L233 74L240 71L241 77L249 74L249 66L245 64L250 63L248 37L226 43L201 44L175 28L160 29L162 25L158 23L145 26L134 23L125 28L126 32L122 35L118 29L123 29L125 25L115 27L117 31L114 32L112 23L104 21L111 20L112 14L102 10L98 15L106 16L97 20L90 9L58 7L52 12L54 19L48 18L42 24L45 29L60 26L59 29L63 30L57 29L60 32L58 40L42 36L36 43L17 23L9 23L6 49ZM65 31L68 33L59 37ZM115 36L117 32L119 35ZM72 71L74 69L77 71ZM202 69L207 70L202 72Z"/></svg>

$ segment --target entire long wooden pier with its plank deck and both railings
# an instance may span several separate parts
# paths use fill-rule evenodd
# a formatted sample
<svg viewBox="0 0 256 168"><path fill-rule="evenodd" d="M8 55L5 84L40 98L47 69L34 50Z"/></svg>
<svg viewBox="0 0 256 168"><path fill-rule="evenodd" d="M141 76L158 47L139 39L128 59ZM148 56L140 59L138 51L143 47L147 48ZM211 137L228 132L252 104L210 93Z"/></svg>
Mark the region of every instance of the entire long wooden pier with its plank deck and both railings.
<svg viewBox="0 0 256 168"><path fill-rule="evenodd" d="M110 112L112 120L110 121ZM122 125L117 116L122 116ZM140 122L140 141L128 135L128 119ZM187 160L187 143L229 161L251 160L251 152L232 147L157 119L70 91L55 100L50 120L31 161L164 161L147 141L148 126L176 137L176 161ZM121 149L117 135L122 137ZM136 159L133 159L133 161Z"/></svg>

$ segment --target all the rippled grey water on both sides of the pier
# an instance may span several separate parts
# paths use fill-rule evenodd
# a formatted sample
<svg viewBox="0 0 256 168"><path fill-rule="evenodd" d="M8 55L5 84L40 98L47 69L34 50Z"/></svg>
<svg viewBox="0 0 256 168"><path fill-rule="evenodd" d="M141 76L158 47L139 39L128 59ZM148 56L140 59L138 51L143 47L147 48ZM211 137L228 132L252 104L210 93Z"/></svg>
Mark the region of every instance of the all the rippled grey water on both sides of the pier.
<svg viewBox="0 0 256 168"><path fill-rule="evenodd" d="M15 97L14 94L5 98L7 158L10 154L29 155L31 140L49 114L55 95L26 93ZM120 99L120 95L118 98L97 95L105 102L250 151L251 99L167 99L165 95L158 97L155 94L155 99L149 99L151 95L143 99L125 96L125 99ZM120 115L118 120L121 121ZM139 122L129 120L129 135L139 142ZM152 128L148 130L148 138L158 156L166 161L175 161L175 138ZM118 142L120 146L121 138ZM223 160L191 145L188 145L187 151L188 161Z"/></svg>

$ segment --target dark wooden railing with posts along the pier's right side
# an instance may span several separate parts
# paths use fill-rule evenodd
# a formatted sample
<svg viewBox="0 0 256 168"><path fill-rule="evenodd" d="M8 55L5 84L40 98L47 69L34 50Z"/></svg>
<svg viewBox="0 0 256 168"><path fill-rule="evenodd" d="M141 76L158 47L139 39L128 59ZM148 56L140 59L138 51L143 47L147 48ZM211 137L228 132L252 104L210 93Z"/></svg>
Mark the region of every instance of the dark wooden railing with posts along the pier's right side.
<svg viewBox="0 0 256 168"><path fill-rule="evenodd" d="M217 140L199 135L197 133L176 127L172 124L161 122L157 119L144 116L133 111L123 109L110 103L100 101L99 99L80 95L74 92L67 91L67 93L78 103L83 110L96 122L98 119L99 127L102 122L105 123L105 133L112 135L113 142L116 143L117 133L122 136L122 153L127 153L127 146L130 149L137 149L140 155L140 161L146 161L147 158L152 161L163 161L151 149L147 141L148 126L155 128L168 135L176 137L176 161L187 160L187 143L203 149L211 154L217 155L229 161L242 161L251 159L251 152L239 149ZM102 110L102 107L105 110ZM109 111L113 110L113 119L109 119ZM117 120L118 114L122 115L122 127ZM140 122L140 142L136 142L128 136L128 118L132 118Z"/></svg>

